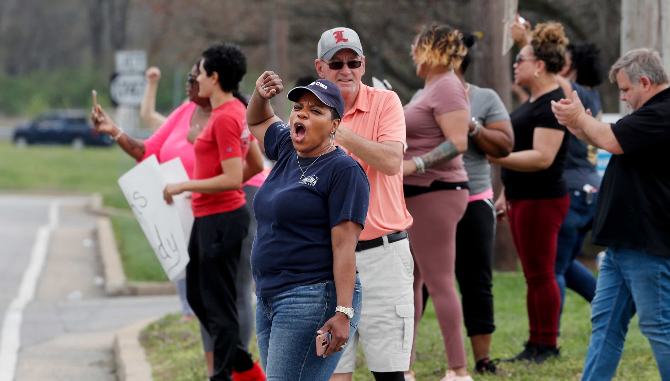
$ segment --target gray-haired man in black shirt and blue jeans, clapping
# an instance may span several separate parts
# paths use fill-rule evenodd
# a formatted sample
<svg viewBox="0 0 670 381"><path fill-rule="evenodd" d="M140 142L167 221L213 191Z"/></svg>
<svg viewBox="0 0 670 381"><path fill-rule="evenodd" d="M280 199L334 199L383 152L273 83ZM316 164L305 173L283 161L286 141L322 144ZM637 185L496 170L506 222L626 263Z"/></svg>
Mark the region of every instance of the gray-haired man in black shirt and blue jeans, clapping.
<svg viewBox="0 0 670 381"><path fill-rule="evenodd" d="M610 380L630 318L639 313L661 379L670 380L670 88L659 54L631 50L612 66L621 100L633 110L614 125L573 101L553 102L559 123L610 151L600 187L593 243L609 246L592 303L593 331L582 380Z"/></svg>

